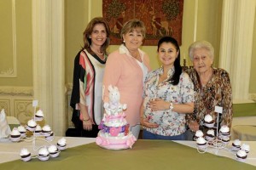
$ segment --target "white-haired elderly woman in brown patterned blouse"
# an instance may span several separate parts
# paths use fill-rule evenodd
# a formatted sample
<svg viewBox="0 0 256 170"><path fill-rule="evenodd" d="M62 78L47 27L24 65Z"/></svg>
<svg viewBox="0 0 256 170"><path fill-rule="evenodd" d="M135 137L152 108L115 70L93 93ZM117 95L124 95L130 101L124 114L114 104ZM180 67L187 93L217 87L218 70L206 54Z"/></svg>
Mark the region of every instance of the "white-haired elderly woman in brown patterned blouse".
<svg viewBox="0 0 256 170"><path fill-rule="evenodd" d="M187 114L188 139L192 134L204 130L203 120L207 114L216 120L215 106L223 107L223 114L219 114L219 126L231 127L232 122L232 90L227 71L213 68L214 49L207 41L194 42L189 47L189 57L194 68L187 72L195 89L195 109L193 114ZM204 130L205 131L205 130ZM192 133L191 133L192 132Z"/></svg>

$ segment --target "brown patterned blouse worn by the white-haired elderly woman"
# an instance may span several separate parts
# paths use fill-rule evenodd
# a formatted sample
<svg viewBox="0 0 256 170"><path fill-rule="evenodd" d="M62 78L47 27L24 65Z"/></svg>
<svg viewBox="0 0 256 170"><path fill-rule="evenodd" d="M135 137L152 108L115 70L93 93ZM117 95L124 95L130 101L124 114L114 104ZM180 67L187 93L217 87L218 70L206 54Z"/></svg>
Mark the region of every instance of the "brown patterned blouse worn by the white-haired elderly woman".
<svg viewBox="0 0 256 170"><path fill-rule="evenodd" d="M204 116L210 114L216 120L215 106L223 107L223 114L219 114L220 126L231 127L232 122L232 89L229 73L223 69L213 68L213 75L207 85L201 87L199 76L195 69L187 70L189 77L194 83L195 109L193 114L187 115L187 122L196 120L202 125Z"/></svg>

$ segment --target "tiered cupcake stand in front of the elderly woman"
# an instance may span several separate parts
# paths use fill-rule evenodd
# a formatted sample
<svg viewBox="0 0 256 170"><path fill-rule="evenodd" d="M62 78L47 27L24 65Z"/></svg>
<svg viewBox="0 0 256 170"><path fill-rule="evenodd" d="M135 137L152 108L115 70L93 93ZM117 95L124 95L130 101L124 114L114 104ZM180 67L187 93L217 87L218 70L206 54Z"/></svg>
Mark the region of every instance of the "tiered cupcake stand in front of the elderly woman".
<svg viewBox="0 0 256 170"><path fill-rule="evenodd" d="M218 120L219 120L219 114L222 114L223 112L223 108L219 107L219 106L215 106L215 112L217 114L217 123L216 123L216 127L209 125L208 123L204 123L204 126L212 128L212 129L216 129L216 136L212 139L207 139L207 136L203 135L203 133L201 133L201 136L196 137L196 144L197 144L197 151L199 153L206 153L208 148L212 148L215 155L218 155L218 150L228 150L231 152L231 154L233 154L234 156L236 156L236 160L237 161L246 161L247 158L247 154L249 152L249 145L248 144L242 144L241 145L241 141L239 139L236 139L236 143L233 143L232 146L229 146L229 142L230 142L230 129L227 126L223 126L225 127L228 132L224 133L222 131L222 129L224 129L223 127L220 128L220 131L218 130ZM197 132L196 132L197 133Z"/></svg>

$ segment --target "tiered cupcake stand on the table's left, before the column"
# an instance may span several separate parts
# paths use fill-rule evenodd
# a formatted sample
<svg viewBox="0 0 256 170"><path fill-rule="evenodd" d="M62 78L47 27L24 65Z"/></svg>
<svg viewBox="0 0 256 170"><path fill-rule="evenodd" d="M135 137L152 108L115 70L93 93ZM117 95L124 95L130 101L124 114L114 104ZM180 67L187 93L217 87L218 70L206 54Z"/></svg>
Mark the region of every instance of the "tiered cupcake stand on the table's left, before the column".
<svg viewBox="0 0 256 170"><path fill-rule="evenodd" d="M10 134L10 140L12 142L32 142L33 151L38 150L38 154L34 154L32 156L31 152L26 148L22 148L20 150L20 159L22 161L30 161L31 159L38 158L40 161L47 161L49 157L57 157L60 155L61 150L66 149L66 139L59 139L57 144L52 144L55 135L51 131L49 125L45 125L41 128L37 125L37 122L41 122L44 120L43 111L37 111L38 100L32 101L32 106L34 108L34 114L32 120L27 122L26 128L20 126L18 128L14 128ZM39 116L37 116L39 115ZM26 133L31 135L26 135ZM15 135L12 135L15 134ZM20 137L17 137L19 136ZM15 136L12 137L12 136ZM37 140L40 140L40 144L37 144Z"/></svg>

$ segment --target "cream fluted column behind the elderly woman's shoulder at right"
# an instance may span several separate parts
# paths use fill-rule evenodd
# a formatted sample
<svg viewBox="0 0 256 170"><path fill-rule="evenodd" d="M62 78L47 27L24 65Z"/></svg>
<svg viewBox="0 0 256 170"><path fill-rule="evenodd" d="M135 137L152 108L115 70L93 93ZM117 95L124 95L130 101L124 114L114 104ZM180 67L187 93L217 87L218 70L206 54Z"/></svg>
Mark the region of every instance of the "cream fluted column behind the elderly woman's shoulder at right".
<svg viewBox="0 0 256 170"><path fill-rule="evenodd" d="M230 73L234 102L248 101L256 0L224 0L219 67Z"/></svg>

